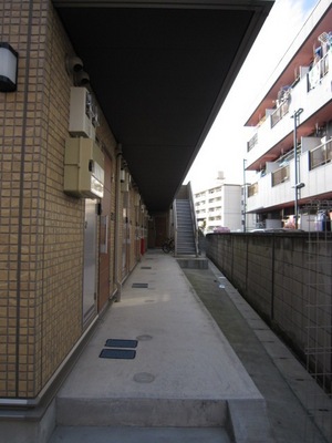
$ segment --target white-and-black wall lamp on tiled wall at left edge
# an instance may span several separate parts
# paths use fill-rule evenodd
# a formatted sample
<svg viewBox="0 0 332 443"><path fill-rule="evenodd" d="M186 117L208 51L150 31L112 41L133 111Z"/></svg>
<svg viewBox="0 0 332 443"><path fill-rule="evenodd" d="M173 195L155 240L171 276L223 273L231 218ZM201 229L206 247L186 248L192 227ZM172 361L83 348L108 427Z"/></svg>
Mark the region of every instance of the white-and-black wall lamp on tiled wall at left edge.
<svg viewBox="0 0 332 443"><path fill-rule="evenodd" d="M9 43L0 43L0 91L13 92L18 83L18 53Z"/></svg>

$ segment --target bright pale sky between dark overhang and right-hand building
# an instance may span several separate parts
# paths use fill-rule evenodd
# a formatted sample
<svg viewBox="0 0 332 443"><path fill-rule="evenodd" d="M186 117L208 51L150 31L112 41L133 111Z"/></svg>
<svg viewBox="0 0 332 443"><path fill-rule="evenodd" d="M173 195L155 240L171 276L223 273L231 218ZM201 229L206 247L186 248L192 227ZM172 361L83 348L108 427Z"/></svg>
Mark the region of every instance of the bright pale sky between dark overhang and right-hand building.
<svg viewBox="0 0 332 443"><path fill-rule="evenodd" d="M243 158L251 130L243 124L264 84L320 0L277 0L261 28L185 179L194 192L224 171L226 183L243 183Z"/></svg>

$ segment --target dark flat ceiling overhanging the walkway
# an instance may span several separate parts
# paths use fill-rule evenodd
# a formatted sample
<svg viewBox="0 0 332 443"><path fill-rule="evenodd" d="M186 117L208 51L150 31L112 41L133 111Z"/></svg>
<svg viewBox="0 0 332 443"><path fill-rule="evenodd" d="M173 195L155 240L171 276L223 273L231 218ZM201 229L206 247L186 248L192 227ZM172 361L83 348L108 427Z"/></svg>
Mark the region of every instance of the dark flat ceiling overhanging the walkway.
<svg viewBox="0 0 332 443"><path fill-rule="evenodd" d="M53 3L148 210L167 209L273 1Z"/></svg>

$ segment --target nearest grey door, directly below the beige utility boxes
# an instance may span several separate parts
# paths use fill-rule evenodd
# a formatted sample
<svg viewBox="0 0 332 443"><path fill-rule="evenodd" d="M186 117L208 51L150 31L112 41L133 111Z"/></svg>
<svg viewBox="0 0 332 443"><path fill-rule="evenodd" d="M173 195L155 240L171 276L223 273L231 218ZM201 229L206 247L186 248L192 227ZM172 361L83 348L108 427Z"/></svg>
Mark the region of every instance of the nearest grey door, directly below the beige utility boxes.
<svg viewBox="0 0 332 443"><path fill-rule="evenodd" d="M83 323L96 312L97 212L96 200L85 199Z"/></svg>

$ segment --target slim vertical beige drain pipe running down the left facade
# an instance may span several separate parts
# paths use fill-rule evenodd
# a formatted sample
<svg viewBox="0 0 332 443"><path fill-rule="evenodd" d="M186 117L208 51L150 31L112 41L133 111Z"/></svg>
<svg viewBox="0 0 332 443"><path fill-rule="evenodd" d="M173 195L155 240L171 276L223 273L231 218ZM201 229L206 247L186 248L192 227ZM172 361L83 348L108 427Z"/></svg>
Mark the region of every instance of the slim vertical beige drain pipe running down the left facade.
<svg viewBox="0 0 332 443"><path fill-rule="evenodd" d="M115 188L115 238L114 238L114 271L115 271L115 285L117 293L115 297L116 301L121 301L122 282L118 279L118 262L121 256L121 241L120 241L120 227L122 223L121 208L121 163L122 163L122 145L116 146L116 188Z"/></svg>

